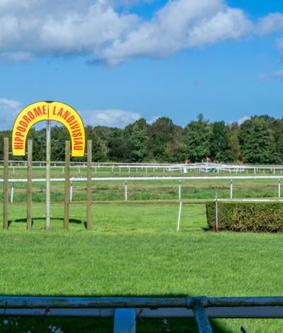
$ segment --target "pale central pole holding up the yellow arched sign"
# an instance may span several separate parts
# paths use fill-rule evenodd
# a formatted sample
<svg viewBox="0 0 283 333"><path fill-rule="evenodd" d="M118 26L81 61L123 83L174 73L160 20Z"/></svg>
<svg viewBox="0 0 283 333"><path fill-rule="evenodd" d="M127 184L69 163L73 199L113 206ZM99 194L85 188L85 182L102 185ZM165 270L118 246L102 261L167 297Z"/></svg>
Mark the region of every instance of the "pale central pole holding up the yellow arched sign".
<svg viewBox="0 0 283 333"><path fill-rule="evenodd" d="M48 119L46 121L46 226L45 229L51 229L50 226L50 127L51 121L49 119L49 107L48 107Z"/></svg>

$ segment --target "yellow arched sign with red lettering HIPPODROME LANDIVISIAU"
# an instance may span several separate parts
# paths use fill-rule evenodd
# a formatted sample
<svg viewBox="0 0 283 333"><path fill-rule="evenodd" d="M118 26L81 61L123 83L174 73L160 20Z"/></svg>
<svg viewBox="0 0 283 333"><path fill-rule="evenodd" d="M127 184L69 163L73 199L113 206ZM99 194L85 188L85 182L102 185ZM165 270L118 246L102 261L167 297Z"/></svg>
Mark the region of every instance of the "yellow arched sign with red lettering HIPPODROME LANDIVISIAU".
<svg viewBox="0 0 283 333"><path fill-rule="evenodd" d="M71 135L71 156L83 156L86 143L83 121L78 112L60 102L30 104L18 114L13 125L13 155L25 155L25 140L28 131L31 126L42 120L55 120L66 126Z"/></svg>

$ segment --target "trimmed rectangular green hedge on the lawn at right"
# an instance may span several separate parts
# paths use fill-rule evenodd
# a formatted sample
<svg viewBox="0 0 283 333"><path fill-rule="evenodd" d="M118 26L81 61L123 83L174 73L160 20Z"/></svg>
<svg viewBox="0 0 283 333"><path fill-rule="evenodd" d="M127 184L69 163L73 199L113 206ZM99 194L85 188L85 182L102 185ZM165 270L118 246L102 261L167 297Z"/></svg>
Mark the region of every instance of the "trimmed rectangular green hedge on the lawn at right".
<svg viewBox="0 0 283 333"><path fill-rule="evenodd" d="M215 231L215 202L207 203L207 223ZM283 232L283 204L218 202L218 230Z"/></svg>

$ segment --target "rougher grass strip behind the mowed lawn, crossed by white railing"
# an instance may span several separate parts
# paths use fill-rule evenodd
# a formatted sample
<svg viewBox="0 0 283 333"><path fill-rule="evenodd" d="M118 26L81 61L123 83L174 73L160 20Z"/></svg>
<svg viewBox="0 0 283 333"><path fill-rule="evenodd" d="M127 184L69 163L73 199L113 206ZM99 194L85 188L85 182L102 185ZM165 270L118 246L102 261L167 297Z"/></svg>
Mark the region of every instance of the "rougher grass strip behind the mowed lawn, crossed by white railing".
<svg viewBox="0 0 283 333"><path fill-rule="evenodd" d="M3 168L0 168L0 171ZM64 178L62 168L51 169L52 178ZM131 169L136 171L136 169ZM269 171L270 172L270 171ZM252 171L249 173L254 175ZM257 175L262 175L262 171ZM181 174L179 171L173 173L163 170L148 170L146 174L144 170L138 172L131 172L127 169L115 169L111 173L111 169L98 169L95 172L93 168L93 177L106 178L106 177L135 177L135 176L176 176L182 179L184 176L216 176L217 174L201 173L197 174L189 172L188 174ZM238 175L246 176L246 173L238 173ZM265 175L272 175L265 172ZM230 176L229 172L219 173L218 176ZM235 173L231 173L235 176ZM277 170L276 176L281 176L280 170ZM9 178L26 178L27 169L16 169L13 174L13 168L9 168ZM86 169L81 167L79 169L71 168L71 177L85 178ZM45 178L44 168L33 168L33 178ZM9 183L9 198L11 200L11 186ZM26 183L14 183L13 202L26 202L27 195ZM179 181L178 180L164 180L164 181L132 181L127 180L127 198L128 200L178 200ZM230 198L230 179L226 180L195 180L183 179L181 181L181 198L182 200L212 200L217 193L218 198ZM282 193L283 194L283 193ZM233 180L233 198L277 198L278 197L278 179L243 179ZM51 183L51 200L52 202L64 202L64 183L52 182ZM86 182L73 182L73 195L72 200L75 202L86 201ZM93 202L99 201L120 201L125 200L125 181L93 181L92 183L92 200ZM0 183L0 201L3 201L3 183ZM45 202L45 183L33 183L33 202Z"/></svg>

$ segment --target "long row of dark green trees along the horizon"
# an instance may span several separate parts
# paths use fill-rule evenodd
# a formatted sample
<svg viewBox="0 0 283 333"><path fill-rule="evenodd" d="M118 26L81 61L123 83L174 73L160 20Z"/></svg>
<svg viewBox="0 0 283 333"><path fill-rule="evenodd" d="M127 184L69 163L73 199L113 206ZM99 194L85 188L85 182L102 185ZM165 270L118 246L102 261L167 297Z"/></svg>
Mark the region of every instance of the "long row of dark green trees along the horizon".
<svg viewBox="0 0 283 333"><path fill-rule="evenodd" d="M210 123L202 114L185 128L168 117L149 124L139 119L124 129L107 126L86 126L86 140L93 142L93 162L205 162L207 157L217 163L282 164L283 119L252 116L241 125L224 121ZM4 158L4 138L9 138L12 151L12 131L0 132L0 159ZM33 160L45 161L46 130L31 128ZM70 135L64 126L51 129L51 160L64 161L65 142ZM26 157L9 155L9 159ZM73 162L85 161L76 157Z"/></svg>

